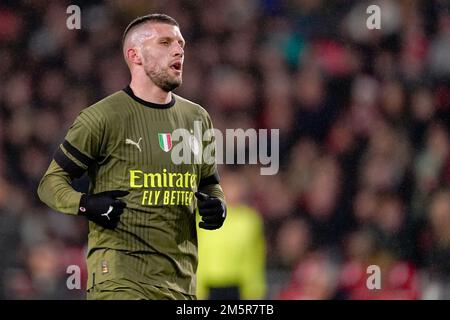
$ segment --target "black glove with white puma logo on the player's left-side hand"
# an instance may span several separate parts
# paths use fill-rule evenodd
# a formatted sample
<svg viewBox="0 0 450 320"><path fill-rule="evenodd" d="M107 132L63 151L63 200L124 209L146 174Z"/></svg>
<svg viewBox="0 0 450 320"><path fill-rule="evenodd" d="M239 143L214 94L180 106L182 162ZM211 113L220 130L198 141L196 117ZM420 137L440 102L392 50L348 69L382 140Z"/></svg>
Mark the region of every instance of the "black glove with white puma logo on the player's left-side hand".
<svg viewBox="0 0 450 320"><path fill-rule="evenodd" d="M86 216L92 222L107 229L114 229L120 220L123 209L127 206L116 199L129 194L128 191L112 190L96 194L83 194L80 199L78 214Z"/></svg>

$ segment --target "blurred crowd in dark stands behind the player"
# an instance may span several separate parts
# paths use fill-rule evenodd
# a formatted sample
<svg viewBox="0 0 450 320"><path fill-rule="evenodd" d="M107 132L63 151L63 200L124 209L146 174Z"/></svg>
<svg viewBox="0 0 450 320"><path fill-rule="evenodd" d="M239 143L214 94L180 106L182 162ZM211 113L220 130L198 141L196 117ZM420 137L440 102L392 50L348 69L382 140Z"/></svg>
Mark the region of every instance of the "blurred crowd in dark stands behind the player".
<svg viewBox="0 0 450 320"><path fill-rule="evenodd" d="M80 30L66 28L70 4L81 8ZM381 8L380 30L366 27L370 4ZM240 242L243 227L225 249L264 250L252 256L259 278L243 297L449 299L449 8L2 0L0 298L84 298L67 289L66 268L80 266L84 287L87 224L40 203L36 187L79 111L128 84L125 26L163 12L187 40L176 92L220 130L280 129L277 175L219 168L230 210L262 232ZM370 265L380 267L380 290L366 287Z"/></svg>

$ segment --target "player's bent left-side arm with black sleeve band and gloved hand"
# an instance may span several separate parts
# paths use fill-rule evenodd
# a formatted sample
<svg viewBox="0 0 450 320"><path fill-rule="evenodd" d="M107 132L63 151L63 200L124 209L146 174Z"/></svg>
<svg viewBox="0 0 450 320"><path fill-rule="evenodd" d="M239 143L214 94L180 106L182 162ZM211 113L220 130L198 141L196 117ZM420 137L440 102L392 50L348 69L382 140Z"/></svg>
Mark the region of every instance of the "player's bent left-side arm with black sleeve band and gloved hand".
<svg viewBox="0 0 450 320"><path fill-rule="evenodd" d="M91 121L91 119L93 121ZM73 189L73 179L81 177L100 157L102 119L80 114L64 142L56 150L42 177L38 196L49 207L67 214L83 215L105 228L115 228L126 207L118 197L127 191L111 190L83 194Z"/></svg>

